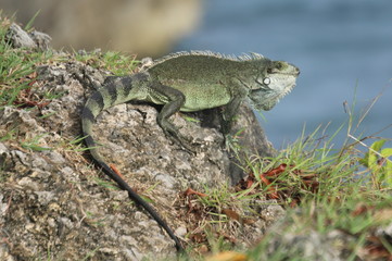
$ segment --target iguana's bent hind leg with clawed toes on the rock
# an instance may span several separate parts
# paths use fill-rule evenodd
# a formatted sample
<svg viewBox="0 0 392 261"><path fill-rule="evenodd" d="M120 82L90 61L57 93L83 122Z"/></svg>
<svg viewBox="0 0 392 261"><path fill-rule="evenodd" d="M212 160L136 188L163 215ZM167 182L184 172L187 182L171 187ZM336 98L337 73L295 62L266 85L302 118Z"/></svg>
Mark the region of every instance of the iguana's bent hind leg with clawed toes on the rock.
<svg viewBox="0 0 392 261"><path fill-rule="evenodd" d="M154 103L164 103L161 112L157 114L156 122L165 133L166 137L170 138L175 142L178 142L188 151L193 151L188 138L180 135L178 128L168 119L179 112L186 101L185 95L169 86L153 83L150 85L152 91L150 92L150 99Z"/></svg>

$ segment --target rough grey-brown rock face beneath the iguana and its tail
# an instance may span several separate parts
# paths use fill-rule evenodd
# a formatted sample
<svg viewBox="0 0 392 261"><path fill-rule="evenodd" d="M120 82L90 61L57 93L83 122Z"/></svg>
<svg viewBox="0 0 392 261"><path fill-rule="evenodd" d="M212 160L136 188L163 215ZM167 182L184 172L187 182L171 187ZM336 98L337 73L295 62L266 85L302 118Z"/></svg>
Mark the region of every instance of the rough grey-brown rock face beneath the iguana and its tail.
<svg viewBox="0 0 392 261"><path fill-rule="evenodd" d="M157 224L137 208L85 157L80 111L93 89L88 75L103 83L106 72L79 62L37 69L33 96L56 98L42 108L0 110L0 260L156 260L176 254ZM84 84L81 84L84 83ZM219 109L176 114L173 121L193 139L195 154L172 144L157 126L159 108L127 103L99 115L96 139L108 163L151 203L179 236L188 233L186 188L219 188L242 175L224 148ZM270 156L273 148L246 108L233 130L245 128L240 146L249 153ZM248 141L246 141L248 140ZM232 174L236 173L236 174ZM260 220L238 229L239 244L254 244L283 210L257 202Z"/></svg>

